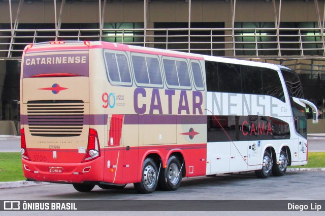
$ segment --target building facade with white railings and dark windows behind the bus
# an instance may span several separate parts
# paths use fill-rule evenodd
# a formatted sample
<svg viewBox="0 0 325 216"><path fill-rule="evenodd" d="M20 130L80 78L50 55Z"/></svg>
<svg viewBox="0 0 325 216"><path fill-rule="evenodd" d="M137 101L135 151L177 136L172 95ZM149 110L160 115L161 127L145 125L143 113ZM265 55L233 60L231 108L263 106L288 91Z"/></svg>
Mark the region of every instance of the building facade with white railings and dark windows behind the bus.
<svg viewBox="0 0 325 216"><path fill-rule="evenodd" d="M323 0L0 0L0 14L0 114L6 125L19 127L24 47L53 40L103 40L285 65L299 74L305 98L324 118ZM325 133L323 126L310 128Z"/></svg>

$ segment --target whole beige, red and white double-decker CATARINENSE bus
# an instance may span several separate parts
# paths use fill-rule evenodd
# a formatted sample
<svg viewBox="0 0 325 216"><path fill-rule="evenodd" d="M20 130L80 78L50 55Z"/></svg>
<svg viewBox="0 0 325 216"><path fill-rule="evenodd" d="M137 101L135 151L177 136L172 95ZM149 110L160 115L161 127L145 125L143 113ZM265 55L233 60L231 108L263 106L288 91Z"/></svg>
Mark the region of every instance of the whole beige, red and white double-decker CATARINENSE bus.
<svg viewBox="0 0 325 216"><path fill-rule="evenodd" d="M114 44L24 49L21 156L29 181L78 191L176 190L184 177L307 164L306 105L283 66ZM317 116L314 118L317 121Z"/></svg>

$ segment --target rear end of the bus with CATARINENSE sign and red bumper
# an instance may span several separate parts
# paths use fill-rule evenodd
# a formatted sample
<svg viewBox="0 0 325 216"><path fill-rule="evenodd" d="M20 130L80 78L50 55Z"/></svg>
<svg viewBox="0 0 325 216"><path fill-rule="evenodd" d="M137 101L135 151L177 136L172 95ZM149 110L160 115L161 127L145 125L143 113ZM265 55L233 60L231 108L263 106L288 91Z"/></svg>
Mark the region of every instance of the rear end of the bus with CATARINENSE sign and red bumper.
<svg viewBox="0 0 325 216"><path fill-rule="evenodd" d="M89 127L89 42L27 46L20 97L21 155L27 180L102 181L98 135Z"/></svg>

